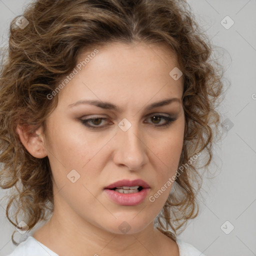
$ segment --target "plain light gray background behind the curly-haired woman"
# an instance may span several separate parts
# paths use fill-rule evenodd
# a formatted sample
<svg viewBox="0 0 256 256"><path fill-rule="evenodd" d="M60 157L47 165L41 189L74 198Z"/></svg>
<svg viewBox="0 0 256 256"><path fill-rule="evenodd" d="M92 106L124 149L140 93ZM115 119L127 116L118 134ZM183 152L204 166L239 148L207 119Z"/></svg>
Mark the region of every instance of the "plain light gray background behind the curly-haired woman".
<svg viewBox="0 0 256 256"><path fill-rule="evenodd" d="M29 0L0 0L1 45L7 43L10 20L22 14L27 2ZM224 76L230 81L230 87L219 109L222 121L227 118L224 124L229 125L229 130L223 128L223 140L215 148L216 164L209 169L219 170L214 179L204 181L205 199L199 199L201 211L196 219L188 222L180 238L207 256L256 255L256 1L188 2L212 43L223 51ZM220 23L226 15L234 21L229 29ZM230 24L229 20L224 22ZM4 194L5 191L0 190L0 197ZM7 222L3 207L1 202L0 256L15 248L10 240L14 227ZM20 234L20 239L27 235L29 233Z"/></svg>

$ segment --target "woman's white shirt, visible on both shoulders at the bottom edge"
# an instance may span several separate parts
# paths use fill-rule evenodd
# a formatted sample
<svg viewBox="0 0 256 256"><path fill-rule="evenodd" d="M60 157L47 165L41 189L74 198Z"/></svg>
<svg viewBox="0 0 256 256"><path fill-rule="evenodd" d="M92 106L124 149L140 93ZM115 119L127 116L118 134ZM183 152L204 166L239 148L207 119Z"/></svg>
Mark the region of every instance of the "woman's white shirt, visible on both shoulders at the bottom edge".
<svg viewBox="0 0 256 256"><path fill-rule="evenodd" d="M177 238L179 256L205 256L190 243ZM25 241L6 256L59 256L48 247L37 241L34 237L28 236Z"/></svg>

